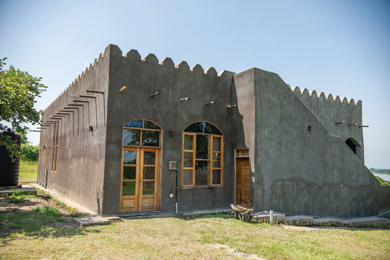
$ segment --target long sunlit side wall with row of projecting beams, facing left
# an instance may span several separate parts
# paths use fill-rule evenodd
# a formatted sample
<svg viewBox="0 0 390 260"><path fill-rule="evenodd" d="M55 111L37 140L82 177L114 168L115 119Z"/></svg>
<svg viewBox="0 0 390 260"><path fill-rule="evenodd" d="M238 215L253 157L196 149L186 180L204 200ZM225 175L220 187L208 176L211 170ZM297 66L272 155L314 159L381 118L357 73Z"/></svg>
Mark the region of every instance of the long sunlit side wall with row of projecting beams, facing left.
<svg viewBox="0 0 390 260"><path fill-rule="evenodd" d="M70 118L66 116L59 120L62 125L59 123L56 171L54 169L51 171L52 155L50 155L50 158L39 158L37 176L37 180L43 182L44 171L48 169L47 187L49 189L99 213L101 213L101 200L103 198L106 147L105 117L107 116L104 108L107 108L107 95L105 95L104 104L103 94L87 93L86 89L107 92L108 66L109 60L103 57L102 53L99 59L95 59L94 64L90 64L89 68L44 110L42 120L55 121L55 119L50 119L59 112L55 109L64 110L64 107L68 106L69 103L73 103L74 98L69 95L90 101L89 112L87 103L81 103L84 104L84 109L80 107L79 112L77 109L72 109L75 111L74 122L72 113L69 113ZM80 94L97 96L97 105L95 105L93 98L80 98ZM93 135L92 132L89 132L89 126L93 126ZM43 146L46 148L50 146L53 149L54 127L51 126L50 133L49 126L43 127L46 127L46 130L41 131L39 149L42 150Z"/></svg>

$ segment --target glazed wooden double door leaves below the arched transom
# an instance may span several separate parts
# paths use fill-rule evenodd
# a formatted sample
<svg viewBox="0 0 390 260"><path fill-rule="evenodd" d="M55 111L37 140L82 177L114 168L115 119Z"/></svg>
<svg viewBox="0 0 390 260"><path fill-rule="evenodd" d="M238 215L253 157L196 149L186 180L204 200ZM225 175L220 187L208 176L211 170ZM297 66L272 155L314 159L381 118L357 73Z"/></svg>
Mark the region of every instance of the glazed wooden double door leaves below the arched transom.
<svg viewBox="0 0 390 260"><path fill-rule="evenodd" d="M120 212L158 210L160 148L124 147Z"/></svg>

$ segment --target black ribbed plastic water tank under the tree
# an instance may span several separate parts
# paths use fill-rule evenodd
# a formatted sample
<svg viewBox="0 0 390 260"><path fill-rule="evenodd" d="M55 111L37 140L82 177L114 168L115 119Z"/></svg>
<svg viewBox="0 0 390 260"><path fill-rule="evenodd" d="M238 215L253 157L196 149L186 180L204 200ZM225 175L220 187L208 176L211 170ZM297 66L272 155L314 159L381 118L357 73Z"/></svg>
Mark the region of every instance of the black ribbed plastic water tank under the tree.
<svg viewBox="0 0 390 260"><path fill-rule="evenodd" d="M10 128L0 131L1 135L9 135L12 140L18 140L18 151L20 152L21 136L15 133ZM19 164L20 159L17 158L12 162L9 157L9 151L4 145L0 145L0 187L16 186L19 182Z"/></svg>

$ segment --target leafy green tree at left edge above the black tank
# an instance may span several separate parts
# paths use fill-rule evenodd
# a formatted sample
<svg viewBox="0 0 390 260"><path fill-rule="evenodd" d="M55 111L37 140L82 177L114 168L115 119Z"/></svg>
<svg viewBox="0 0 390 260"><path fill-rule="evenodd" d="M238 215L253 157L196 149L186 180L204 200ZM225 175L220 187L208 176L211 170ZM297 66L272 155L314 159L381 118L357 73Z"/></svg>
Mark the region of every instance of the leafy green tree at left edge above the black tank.
<svg viewBox="0 0 390 260"><path fill-rule="evenodd" d="M39 123L42 110L34 109L35 97L41 97L39 94L47 87L39 83L42 78L32 77L12 65L7 70L3 69L6 59L0 60L0 130L7 128L3 125L5 121L23 136L29 129L26 123ZM12 141L9 135L0 135L0 144L7 147L12 160L20 156L17 142Z"/></svg>

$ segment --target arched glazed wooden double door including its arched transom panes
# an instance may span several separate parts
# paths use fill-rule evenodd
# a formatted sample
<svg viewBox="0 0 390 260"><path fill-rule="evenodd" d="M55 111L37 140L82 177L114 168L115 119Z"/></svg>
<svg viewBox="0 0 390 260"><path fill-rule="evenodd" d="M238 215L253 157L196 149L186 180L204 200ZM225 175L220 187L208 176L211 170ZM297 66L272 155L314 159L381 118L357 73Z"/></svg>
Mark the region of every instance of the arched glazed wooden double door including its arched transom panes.
<svg viewBox="0 0 390 260"><path fill-rule="evenodd" d="M146 119L123 126L121 213L160 209L161 132Z"/></svg>

